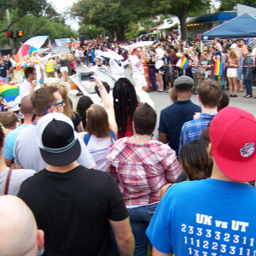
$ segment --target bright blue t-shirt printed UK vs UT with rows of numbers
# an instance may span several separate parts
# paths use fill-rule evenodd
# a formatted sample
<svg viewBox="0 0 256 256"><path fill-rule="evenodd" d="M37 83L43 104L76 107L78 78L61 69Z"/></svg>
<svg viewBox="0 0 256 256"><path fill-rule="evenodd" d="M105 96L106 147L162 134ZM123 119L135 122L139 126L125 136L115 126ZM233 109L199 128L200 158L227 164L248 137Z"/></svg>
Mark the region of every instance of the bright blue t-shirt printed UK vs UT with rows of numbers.
<svg viewBox="0 0 256 256"><path fill-rule="evenodd" d="M168 189L147 236L175 256L256 255L256 189L217 179L177 183Z"/></svg>

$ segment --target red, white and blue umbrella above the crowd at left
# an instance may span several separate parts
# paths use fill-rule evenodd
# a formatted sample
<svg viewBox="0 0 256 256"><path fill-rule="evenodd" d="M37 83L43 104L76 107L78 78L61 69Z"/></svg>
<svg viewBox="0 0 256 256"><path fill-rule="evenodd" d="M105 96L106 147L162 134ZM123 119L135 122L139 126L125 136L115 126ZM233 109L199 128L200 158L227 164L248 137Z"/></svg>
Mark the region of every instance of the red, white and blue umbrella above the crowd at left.
<svg viewBox="0 0 256 256"><path fill-rule="evenodd" d="M38 36L38 37L32 37L26 40L24 44L20 46L20 49L17 52L16 55L16 62L19 62L28 54L32 54L32 52L40 49L40 47L44 44L45 40L48 38L48 36Z"/></svg>

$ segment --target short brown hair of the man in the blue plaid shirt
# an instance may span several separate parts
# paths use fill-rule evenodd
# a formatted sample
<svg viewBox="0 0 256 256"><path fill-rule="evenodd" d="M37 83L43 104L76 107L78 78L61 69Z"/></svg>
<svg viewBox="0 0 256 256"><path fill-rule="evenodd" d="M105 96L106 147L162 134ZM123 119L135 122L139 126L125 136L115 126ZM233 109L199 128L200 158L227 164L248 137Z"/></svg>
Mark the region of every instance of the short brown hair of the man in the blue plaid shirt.
<svg viewBox="0 0 256 256"><path fill-rule="evenodd" d="M215 108L222 96L222 87L213 79L205 79L199 84L197 93L205 107Z"/></svg>

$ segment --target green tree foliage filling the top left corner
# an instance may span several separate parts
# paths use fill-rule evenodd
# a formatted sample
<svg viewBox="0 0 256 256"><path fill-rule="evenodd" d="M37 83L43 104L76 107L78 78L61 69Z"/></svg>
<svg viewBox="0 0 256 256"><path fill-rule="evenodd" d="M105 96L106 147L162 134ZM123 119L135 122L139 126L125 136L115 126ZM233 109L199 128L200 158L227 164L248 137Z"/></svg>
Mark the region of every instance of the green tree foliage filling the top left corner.
<svg viewBox="0 0 256 256"><path fill-rule="evenodd" d="M7 32L27 14L43 15L49 7L46 0L0 0L0 32Z"/></svg>

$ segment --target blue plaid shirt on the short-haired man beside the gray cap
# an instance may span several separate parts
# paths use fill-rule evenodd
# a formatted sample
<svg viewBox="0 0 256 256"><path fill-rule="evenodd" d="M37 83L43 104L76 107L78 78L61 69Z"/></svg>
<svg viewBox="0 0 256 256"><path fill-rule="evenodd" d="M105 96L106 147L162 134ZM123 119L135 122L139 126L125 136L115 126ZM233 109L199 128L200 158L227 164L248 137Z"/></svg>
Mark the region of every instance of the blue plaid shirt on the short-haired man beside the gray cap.
<svg viewBox="0 0 256 256"><path fill-rule="evenodd" d="M200 138L201 132L207 127L208 123L212 121L214 115L215 114L210 113L200 113L198 119L184 123L180 133L179 150L182 148L183 143Z"/></svg>

